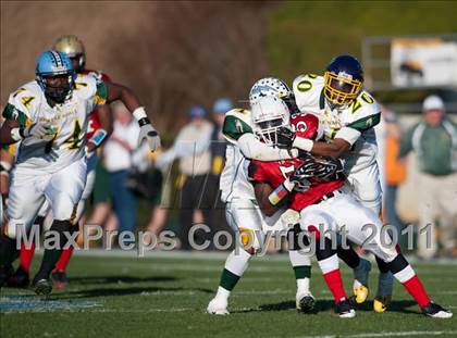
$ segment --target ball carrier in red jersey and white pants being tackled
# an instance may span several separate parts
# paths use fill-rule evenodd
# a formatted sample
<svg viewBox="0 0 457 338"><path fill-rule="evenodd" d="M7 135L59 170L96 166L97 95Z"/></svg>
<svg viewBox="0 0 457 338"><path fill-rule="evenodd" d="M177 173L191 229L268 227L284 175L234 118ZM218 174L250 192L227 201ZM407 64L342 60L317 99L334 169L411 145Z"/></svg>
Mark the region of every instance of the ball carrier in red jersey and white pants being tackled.
<svg viewBox="0 0 457 338"><path fill-rule="evenodd" d="M281 145L281 128L295 128L297 136L308 139L319 137L319 118L312 114L289 117L287 105L279 98L265 97L251 108L254 132L271 146ZM370 209L363 208L350 193L342 189L343 167L333 158L305 157L277 162L252 161L249 177L255 186L256 199L265 215L279 208L295 210L300 214L300 228L316 235L316 255L324 280L333 295L341 317L356 315L345 293L338 267L338 258L330 231L344 231L348 240L382 259L395 278L419 304L422 313L435 318L449 318L453 313L433 303L420 279L394 246L382 223ZM365 227L365 225L373 225ZM374 230L373 230L374 229ZM321 238L322 237L322 238Z"/></svg>

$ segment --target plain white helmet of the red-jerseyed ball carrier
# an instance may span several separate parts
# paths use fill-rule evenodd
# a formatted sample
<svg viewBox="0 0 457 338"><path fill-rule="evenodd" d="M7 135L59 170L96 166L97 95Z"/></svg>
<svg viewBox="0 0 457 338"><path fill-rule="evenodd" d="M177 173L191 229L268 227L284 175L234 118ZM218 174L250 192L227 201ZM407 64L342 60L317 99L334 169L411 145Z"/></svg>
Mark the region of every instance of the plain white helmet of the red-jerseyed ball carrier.
<svg viewBox="0 0 457 338"><path fill-rule="evenodd" d="M261 97L251 105L254 134L269 146L277 146L277 129L291 127L287 104L277 97Z"/></svg>

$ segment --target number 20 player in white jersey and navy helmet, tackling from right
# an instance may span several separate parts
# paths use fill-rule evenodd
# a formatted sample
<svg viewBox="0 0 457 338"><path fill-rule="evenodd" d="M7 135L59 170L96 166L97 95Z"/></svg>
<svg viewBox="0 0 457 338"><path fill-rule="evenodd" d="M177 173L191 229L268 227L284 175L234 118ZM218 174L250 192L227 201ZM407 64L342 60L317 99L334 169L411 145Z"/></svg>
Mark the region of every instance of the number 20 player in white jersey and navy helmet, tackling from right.
<svg viewBox="0 0 457 338"><path fill-rule="evenodd" d="M326 142L296 138L293 147L344 159L354 196L363 206L380 214L382 190L373 127L380 122L381 110L362 84L362 67L351 55L334 58L324 76L298 76L293 85L297 107L301 112L319 115ZM373 306L376 312L384 312L392 298L393 275L381 260L376 262L381 273ZM363 302L367 285L356 280L354 292L356 301Z"/></svg>

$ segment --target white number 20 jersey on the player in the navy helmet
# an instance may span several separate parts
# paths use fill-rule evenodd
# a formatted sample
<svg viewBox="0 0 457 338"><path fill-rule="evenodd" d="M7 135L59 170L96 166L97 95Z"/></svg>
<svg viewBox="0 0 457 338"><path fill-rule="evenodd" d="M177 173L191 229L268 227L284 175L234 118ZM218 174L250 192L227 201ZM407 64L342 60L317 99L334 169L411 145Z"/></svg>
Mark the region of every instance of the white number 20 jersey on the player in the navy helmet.
<svg viewBox="0 0 457 338"><path fill-rule="evenodd" d="M324 98L324 79L312 74L294 80L293 90L301 112L319 115L325 138L343 138L353 149L344 155L345 172L356 173L376 161L378 146L373 127L380 123L381 110L376 101L362 89L350 105L332 109Z"/></svg>

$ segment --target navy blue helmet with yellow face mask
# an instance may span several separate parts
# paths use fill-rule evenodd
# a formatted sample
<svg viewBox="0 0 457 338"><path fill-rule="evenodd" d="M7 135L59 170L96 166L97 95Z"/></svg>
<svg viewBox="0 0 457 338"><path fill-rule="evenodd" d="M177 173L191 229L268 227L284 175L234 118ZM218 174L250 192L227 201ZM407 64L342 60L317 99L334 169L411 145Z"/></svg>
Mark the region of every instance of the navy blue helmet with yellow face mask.
<svg viewBox="0 0 457 338"><path fill-rule="evenodd" d="M363 84L363 71L351 55L332 60L324 73L324 95L330 104L343 107L357 98Z"/></svg>

